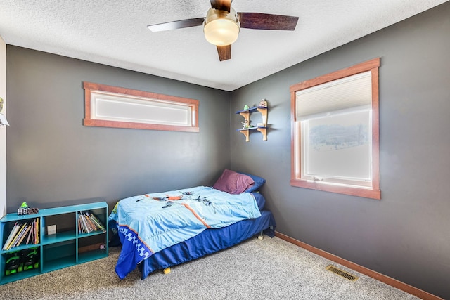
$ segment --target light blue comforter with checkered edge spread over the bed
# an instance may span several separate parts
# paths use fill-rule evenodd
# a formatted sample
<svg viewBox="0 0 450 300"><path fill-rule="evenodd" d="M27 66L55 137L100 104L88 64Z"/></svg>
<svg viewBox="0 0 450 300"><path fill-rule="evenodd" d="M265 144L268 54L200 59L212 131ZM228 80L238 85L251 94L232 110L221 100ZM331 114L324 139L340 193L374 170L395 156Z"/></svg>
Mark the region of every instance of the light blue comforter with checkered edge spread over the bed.
<svg viewBox="0 0 450 300"><path fill-rule="evenodd" d="M207 228L259 216L252 193L231 195L205 186L120 200L109 217L122 242L116 273L123 279L143 259Z"/></svg>

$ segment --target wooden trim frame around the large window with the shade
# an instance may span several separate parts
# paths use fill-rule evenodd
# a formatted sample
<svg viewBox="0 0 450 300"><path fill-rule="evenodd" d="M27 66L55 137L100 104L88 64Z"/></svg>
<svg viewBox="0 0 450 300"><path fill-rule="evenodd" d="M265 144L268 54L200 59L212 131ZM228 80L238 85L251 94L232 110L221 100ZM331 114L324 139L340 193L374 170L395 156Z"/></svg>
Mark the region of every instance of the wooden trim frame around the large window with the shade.
<svg viewBox="0 0 450 300"><path fill-rule="evenodd" d="M374 58L364 63L359 63L352 67L347 67L342 70L325 74L314 79L302 81L298 84L290 86L290 119L291 119L291 175L290 185L299 188L310 188L314 190L323 190L332 193L340 193L345 195L354 195L359 197L367 197L376 200L381 199L380 191L380 130L379 130L379 92L378 92L378 68L380 67L380 58ZM331 185L326 183L319 183L316 181L308 181L300 178L300 174L296 174L296 164L300 166L300 162L297 162L295 157L295 133L296 129L296 116L295 116L295 92L302 89L307 89L311 86L317 86L329 81L341 79L354 74L371 71L372 75L372 187L360 188L345 185ZM300 133L299 133L300 134ZM300 171L299 171L300 172Z"/></svg>

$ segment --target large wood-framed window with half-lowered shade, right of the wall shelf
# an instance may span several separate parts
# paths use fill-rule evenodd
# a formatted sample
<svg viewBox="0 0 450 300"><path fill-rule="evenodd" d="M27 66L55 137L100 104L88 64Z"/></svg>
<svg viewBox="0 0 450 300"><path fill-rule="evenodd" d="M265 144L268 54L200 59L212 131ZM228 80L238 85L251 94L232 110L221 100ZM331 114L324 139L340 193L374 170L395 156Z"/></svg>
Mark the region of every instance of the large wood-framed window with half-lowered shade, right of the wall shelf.
<svg viewBox="0 0 450 300"><path fill-rule="evenodd" d="M291 185L381 198L378 67L375 58L290 87Z"/></svg>

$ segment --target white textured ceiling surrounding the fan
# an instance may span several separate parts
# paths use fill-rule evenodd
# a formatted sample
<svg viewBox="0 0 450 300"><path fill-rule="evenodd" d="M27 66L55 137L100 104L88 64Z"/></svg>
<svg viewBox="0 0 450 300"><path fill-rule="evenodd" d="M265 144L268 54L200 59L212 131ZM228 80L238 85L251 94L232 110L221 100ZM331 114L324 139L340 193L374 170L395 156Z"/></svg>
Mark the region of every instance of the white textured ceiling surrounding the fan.
<svg viewBox="0 0 450 300"><path fill-rule="evenodd" d="M295 31L241 29L219 61L203 27L146 25L205 17L208 0L0 0L6 44L233 91L448 0L235 0L238 12L299 17Z"/></svg>

